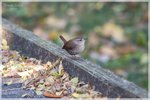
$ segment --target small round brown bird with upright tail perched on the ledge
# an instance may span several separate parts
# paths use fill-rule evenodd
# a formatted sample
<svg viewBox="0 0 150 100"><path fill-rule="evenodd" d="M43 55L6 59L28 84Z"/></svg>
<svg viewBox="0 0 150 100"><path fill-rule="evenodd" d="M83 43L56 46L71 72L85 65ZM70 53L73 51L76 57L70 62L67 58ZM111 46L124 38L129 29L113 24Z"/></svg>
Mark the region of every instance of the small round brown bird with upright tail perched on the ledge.
<svg viewBox="0 0 150 100"><path fill-rule="evenodd" d="M82 37L76 37L67 41L62 35L60 35L60 39L64 42L62 48L71 55L78 55L85 48L85 39Z"/></svg>

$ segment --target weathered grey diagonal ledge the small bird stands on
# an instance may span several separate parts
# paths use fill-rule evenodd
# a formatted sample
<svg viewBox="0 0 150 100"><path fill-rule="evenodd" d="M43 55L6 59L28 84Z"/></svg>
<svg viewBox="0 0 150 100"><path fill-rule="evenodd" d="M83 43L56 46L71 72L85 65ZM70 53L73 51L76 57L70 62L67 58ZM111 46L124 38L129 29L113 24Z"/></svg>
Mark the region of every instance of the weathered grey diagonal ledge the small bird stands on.
<svg viewBox="0 0 150 100"><path fill-rule="evenodd" d="M132 82L120 78L113 72L103 69L84 59L73 60L68 58L68 53L54 43L37 37L32 32L22 29L6 19L2 19L4 35L9 41L9 46L21 54L54 62L59 57L64 58L63 65L71 77L77 76L79 80L95 86L95 90L108 97L122 98L147 98L146 90Z"/></svg>

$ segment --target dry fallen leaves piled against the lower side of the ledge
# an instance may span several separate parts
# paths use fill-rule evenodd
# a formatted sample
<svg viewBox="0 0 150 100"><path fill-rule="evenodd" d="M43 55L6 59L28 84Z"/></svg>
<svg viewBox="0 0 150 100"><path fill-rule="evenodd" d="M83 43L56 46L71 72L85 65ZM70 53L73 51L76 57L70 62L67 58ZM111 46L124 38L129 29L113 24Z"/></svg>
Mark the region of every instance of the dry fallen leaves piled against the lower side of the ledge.
<svg viewBox="0 0 150 100"><path fill-rule="evenodd" d="M24 89L35 90L37 95L48 98L106 98L102 93L94 91L89 84L79 81L78 77L71 78L65 72L61 58L54 63L41 63L40 60L21 56L17 51L9 50L5 39L1 46L2 77L22 78ZM12 83L10 81L7 84ZM26 97L26 94L22 95L24 96Z"/></svg>

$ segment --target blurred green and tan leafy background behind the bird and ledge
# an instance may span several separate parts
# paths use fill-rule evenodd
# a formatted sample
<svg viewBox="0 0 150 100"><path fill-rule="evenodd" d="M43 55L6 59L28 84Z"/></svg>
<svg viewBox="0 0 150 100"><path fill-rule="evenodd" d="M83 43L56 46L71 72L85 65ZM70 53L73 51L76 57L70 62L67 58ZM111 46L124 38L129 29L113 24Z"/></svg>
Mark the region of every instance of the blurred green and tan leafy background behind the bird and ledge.
<svg viewBox="0 0 150 100"><path fill-rule="evenodd" d="M148 90L148 3L3 2L2 16L59 46L88 38L85 59Z"/></svg>

